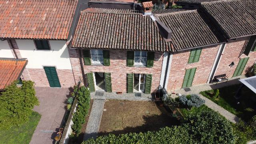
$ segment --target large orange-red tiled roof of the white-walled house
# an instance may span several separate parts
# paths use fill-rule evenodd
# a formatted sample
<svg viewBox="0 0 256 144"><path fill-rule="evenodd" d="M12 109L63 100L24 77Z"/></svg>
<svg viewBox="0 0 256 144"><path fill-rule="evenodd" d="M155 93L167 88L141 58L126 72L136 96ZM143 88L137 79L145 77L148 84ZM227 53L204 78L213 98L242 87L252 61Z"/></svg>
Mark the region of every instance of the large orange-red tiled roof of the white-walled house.
<svg viewBox="0 0 256 144"><path fill-rule="evenodd" d="M78 0L0 0L0 38L67 40Z"/></svg>

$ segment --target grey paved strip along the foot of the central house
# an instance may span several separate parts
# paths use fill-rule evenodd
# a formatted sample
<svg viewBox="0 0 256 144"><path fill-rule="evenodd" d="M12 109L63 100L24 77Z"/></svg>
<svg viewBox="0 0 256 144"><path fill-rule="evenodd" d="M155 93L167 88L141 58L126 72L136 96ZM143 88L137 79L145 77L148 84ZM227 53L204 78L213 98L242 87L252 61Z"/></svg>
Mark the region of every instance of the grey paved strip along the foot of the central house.
<svg viewBox="0 0 256 144"><path fill-rule="evenodd" d="M99 96L103 94L103 96ZM150 101L152 100L151 94L144 93L123 93L116 94L115 92L92 92L92 99L115 99L115 100L136 100L136 101Z"/></svg>

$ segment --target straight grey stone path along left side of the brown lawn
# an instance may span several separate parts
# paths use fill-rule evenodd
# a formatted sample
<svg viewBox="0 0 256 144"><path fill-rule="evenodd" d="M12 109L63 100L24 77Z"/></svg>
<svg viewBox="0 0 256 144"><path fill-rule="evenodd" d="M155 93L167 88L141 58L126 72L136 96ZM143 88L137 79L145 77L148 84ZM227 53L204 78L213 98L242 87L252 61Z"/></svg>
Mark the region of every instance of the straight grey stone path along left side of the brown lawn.
<svg viewBox="0 0 256 144"><path fill-rule="evenodd" d="M100 128L102 112L105 104L105 99L94 99L92 109L84 133L84 140L96 138Z"/></svg>

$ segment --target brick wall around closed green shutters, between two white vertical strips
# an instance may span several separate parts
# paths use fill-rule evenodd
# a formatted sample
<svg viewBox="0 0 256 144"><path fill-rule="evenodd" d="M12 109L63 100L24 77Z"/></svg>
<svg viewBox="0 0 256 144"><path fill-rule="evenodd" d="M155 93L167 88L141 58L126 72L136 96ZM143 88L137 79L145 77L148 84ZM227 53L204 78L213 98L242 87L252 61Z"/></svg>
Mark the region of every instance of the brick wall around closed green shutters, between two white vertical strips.
<svg viewBox="0 0 256 144"><path fill-rule="evenodd" d="M167 90L170 91L176 80L176 88L182 88L186 69L196 68L192 86L205 84L209 78L220 45L205 47L201 51L199 62L188 64L190 50L173 54ZM173 90L174 88L172 88Z"/></svg>

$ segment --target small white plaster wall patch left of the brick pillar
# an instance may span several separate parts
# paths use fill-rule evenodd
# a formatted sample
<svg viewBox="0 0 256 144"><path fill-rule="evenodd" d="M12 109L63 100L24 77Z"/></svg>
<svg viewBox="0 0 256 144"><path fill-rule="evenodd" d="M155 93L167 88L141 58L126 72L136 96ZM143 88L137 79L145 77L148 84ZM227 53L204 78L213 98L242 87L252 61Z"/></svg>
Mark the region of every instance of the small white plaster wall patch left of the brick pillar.
<svg viewBox="0 0 256 144"><path fill-rule="evenodd" d="M14 58L7 40L0 40L0 58Z"/></svg>

